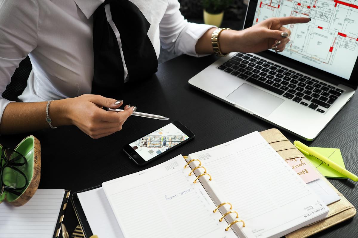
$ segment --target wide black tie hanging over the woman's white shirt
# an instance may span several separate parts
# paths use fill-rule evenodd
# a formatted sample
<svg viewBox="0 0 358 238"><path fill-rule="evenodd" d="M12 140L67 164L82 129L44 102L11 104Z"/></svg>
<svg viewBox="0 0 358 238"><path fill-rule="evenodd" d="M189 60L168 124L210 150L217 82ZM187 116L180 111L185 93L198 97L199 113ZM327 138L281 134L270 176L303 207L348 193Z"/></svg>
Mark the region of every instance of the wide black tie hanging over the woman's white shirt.
<svg viewBox="0 0 358 238"><path fill-rule="evenodd" d="M120 36L130 81L142 80L158 69L158 59L147 32L150 24L136 5L127 0L105 0L93 14L94 74L92 94L122 98L124 67L118 41L107 21L105 5Z"/></svg>

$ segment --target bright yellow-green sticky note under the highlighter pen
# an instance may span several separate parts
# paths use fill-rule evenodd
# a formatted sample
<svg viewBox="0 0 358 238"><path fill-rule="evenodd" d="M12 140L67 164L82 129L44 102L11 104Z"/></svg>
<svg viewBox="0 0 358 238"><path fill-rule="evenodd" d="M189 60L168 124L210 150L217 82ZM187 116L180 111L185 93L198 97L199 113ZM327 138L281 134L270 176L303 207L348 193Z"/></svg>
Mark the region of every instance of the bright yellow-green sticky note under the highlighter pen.
<svg viewBox="0 0 358 238"><path fill-rule="evenodd" d="M310 147L312 150L320 153L321 155L325 156L326 158L329 158L333 162L339 164L343 168L344 162L342 155L340 153L340 150L337 148L321 148L321 147ZM312 157L312 156L306 156L306 158L309 159L309 161L325 176L326 178L347 178L343 174L335 171L333 168L326 166L324 163L319 161L318 159Z"/></svg>

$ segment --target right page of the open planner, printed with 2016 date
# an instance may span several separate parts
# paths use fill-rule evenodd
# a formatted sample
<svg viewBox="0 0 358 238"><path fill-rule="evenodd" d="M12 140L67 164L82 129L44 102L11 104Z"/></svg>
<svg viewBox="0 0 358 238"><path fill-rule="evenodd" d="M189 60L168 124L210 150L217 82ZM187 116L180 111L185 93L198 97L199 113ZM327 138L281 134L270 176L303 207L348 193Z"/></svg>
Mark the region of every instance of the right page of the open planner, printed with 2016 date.
<svg viewBox="0 0 358 238"><path fill-rule="evenodd" d="M258 132L192 153L188 159L195 158L212 176L212 181L204 176L200 182L219 202L233 205L245 222L240 229L247 237L281 237L323 219L329 211Z"/></svg>

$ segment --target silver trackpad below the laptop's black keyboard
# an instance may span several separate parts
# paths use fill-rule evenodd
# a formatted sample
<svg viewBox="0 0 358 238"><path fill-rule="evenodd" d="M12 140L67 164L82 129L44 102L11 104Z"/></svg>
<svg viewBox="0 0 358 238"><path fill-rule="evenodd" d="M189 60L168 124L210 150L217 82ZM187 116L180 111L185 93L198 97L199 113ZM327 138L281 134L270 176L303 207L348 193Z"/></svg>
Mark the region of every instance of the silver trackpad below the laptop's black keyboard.
<svg viewBox="0 0 358 238"><path fill-rule="evenodd" d="M247 108L254 114L261 114L262 116L269 116L271 112L285 101L282 98L276 97L246 83L243 83L226 98L239 106Z"/></svg>

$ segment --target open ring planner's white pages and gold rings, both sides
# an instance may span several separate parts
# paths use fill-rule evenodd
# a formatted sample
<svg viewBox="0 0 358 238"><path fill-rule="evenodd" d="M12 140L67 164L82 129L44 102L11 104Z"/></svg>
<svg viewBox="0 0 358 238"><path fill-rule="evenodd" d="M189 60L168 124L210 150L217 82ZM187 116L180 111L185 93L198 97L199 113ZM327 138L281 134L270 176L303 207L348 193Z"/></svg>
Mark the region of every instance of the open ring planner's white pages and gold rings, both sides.
<svg viewBox="0 0 358 238"><path fill-rule="evenodd" d="M258 132L79 191L75 199L84 235L100 238L281 237L329 212Z"/></svg>

